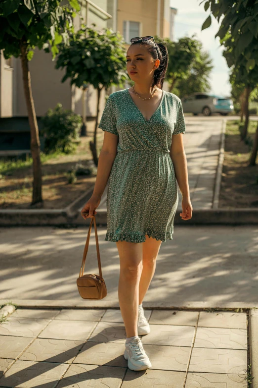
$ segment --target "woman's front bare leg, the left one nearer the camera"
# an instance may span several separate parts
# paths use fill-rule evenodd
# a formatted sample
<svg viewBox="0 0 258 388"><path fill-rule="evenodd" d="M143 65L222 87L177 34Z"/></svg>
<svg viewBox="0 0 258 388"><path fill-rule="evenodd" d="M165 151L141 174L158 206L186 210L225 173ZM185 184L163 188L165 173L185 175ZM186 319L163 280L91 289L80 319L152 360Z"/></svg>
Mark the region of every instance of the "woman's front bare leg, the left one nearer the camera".
<svg viewBox="0 0 258 388"><path fill-rule="evenodd" d="M138 335L139 282L142 272L142 242L117 241L120 258L118 298L127 337Z"/></svg>

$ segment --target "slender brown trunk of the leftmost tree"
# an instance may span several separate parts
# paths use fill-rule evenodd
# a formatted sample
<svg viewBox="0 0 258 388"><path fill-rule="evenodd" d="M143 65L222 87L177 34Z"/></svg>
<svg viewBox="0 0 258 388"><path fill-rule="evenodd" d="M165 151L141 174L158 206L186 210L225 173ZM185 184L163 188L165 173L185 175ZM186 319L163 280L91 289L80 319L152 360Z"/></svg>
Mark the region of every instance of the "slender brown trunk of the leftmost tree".
<svg viewBox="0 0 258 388"><path fill-rule="evenodd" d="M28 111L28 118L31 130L31 155L33 160L33 195L32 205L41 204L43 206L42 199L42 169L40 158L40 137L38 122L34 107L34 101L31 90L31 75L29 70L29 64L27 59L27 44L20 43L21 49L21 64L22 64L22 76L25 100Z"/></svg>

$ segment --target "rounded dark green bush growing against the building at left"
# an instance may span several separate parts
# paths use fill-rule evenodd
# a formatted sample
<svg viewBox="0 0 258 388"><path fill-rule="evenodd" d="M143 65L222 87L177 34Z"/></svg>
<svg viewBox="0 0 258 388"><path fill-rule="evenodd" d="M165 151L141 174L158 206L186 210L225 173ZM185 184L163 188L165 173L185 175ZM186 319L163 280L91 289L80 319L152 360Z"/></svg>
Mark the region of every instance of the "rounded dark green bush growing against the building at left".
<svg viewBox="0 0 258 388"><path fill-rule="evenodd" d="M42 133L45 137L45 153L63 152L72 154L80 143L82 117L71 110L65 110L61 104L49 109L44 117Z"/></svg>

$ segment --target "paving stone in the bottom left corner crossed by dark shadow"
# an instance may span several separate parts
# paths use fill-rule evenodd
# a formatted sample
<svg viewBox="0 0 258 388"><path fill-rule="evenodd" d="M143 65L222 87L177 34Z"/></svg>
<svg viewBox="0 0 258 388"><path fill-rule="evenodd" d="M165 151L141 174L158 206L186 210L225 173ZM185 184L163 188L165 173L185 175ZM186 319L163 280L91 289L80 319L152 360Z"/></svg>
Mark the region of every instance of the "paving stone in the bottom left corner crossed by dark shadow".
<svg viewBox="0 0 258 388"><path fill-rule="evenodd" d="M17 360L0 379L0 387L54 388L68 364Z"/></svg>

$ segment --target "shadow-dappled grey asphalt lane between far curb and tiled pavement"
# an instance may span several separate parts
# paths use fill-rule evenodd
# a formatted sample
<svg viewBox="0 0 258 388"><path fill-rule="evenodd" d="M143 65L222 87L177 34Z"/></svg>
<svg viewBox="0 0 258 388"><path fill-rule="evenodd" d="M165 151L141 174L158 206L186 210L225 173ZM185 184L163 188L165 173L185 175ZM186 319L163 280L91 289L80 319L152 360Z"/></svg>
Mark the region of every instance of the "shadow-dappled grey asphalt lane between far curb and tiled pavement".
<svg viewBox="0 0 258 388"><path fill-rule="evenodd" d="M98 226L108 294L86 301L79 276L88 228L0 228L0 302L21 306L117 308L119 255ZM176 225L163 242L145 307L258 307L258 226ZM94 229L85 273L98 274Z"/></svg>

